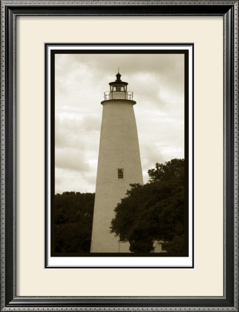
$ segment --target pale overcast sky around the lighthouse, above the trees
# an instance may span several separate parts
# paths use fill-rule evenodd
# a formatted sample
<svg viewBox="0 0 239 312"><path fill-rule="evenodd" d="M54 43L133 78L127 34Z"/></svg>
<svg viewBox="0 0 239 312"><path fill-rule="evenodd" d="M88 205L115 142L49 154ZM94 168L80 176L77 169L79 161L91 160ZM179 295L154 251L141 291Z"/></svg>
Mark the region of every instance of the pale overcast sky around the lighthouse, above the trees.
<svg viewBox="0 0 239 312"><path fill-rule="evenodd" d="M144 182L156 162L184 158L182 54L56 54L56 193L95 191L101 101L118 67L137 102Z"/></svg>

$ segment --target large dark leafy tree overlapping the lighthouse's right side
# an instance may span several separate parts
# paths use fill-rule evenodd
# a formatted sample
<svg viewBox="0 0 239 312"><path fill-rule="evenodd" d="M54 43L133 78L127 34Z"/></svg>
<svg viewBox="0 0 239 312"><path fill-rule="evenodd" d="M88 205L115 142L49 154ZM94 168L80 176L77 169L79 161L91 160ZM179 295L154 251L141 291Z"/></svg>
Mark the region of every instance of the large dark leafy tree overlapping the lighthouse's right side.
<svg viewBox="0 0 239 312"><path fill-rule="evenodd" d="M149 183L131 184L115 207L110 230L129 241L131 252L153 252L154 241L165 241L167 252L185 250L184 159L156 164Z"/></svg>

